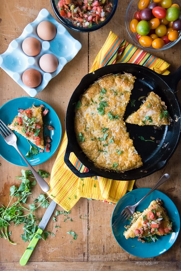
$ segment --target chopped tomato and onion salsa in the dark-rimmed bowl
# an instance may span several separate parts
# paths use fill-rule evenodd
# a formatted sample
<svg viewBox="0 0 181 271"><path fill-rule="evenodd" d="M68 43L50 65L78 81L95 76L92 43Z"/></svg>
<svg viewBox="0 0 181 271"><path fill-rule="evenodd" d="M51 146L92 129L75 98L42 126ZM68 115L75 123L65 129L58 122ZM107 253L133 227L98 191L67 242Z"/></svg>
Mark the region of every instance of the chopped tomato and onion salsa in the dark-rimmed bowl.
<svg viewBox="0 0 181 271"><path fill-rule="evenodd" d="M106 20L113 4L109 0L60 0L60 16L78 27L92 27Z"/></svg>

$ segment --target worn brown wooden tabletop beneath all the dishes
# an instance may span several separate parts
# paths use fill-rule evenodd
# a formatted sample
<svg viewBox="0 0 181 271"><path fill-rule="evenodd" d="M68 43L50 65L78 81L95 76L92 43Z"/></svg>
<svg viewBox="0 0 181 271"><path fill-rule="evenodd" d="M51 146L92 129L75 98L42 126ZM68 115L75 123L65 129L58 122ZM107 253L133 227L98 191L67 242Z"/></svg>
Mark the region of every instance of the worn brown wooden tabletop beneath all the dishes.
<svg viewBox="0 0 181 271"><path fill-rule="evenodd" d="M65 111L71 94L88 73L94 58L105 42L110 30L119 37L131 42L125 29L125 11L129 0L119 0L118 8L113 19L102 29L95 32L77 33L71 35L82 44L82 49L63 70L54 77L47 87L36 96L52 106L62 122L62 132L65 131ZM53 17L50 0L42 1L1 1L0 2L0 53L5 52L9 43L21 35L24 27L35 20L39 11L46 8ZM58 19L57 19L58 20ZM155 53L171 64L170 71L180 66L181 43L171 49ZM181 82L180 82L181 83ZM181 100L181 84L178 84L178 97ZM14 82L8 74L0 69L0 106L16 97L28 96L27 93ZM11 110L11 109L10 109ZM57 150L58 152L58 150ZM35 167L51 172L57 152L45 163ZM166 167L146 178L135 181L135 188L152 187L163 173L171 175L170 181L162 185L159 190L167 194L181 212L180 160L181 143L169 160ZM15 176L21 176L21 167L10 164L0 157L0 203L7 206L9 202L9 188L17 185ZM26 167L24 169L27 169ZM37 185L33 190L33 198L42 193ZM11 239L17 245L10 244L2 238L0 250L1 270L180 270L181 269L181 235L166 253L154 258L134 257L115 241L111 231L111 215L113 205L81 198L71 210L71 224L64 222L64 216L58 217L57 225L50 219L46 230L54 232L56 237L49 236L46 241L40 240L26 266L20 266L19 260L27 247L20 235L22 225L11 226ZM58 206L58 210L62 210ZM36 211L36 215L43 215L44 210ZM38 213L39 212L39 213ZM86 216L85 216L86 215ZM84 217L85 219L81 219ZM73 230L77 233L77 240L73 240L66 232Z"/></svg>

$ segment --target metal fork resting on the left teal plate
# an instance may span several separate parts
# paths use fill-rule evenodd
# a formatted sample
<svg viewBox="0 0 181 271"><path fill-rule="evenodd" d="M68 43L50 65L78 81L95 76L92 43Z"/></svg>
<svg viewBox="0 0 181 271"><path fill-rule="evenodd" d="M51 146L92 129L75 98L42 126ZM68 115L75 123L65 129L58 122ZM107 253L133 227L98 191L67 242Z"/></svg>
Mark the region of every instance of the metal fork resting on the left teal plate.
<svg viewBox="0 0 181 271"><path fill-rule="evenodd" d="M23 160L27 163L27 165L29 166L30 170L32 171L34 177L37 180L37 183L40 185L41 189L44 192L49 191L50 187L49 185L46 183L46 181L36 172L35 169L33 169L33 167L30 165L30 163L26 160L26 158L23 156L23 154L21 153L21 151L18 149L16 141L17 141L17 137L16 135L13 133L13 131L11 129L8 128L8 126L0 119L0 134L2 135L2 137L4 138L4 140L6 141L6 143L10 146L13 146L17 152L21 155L21 157L23 158Z"/></svg>

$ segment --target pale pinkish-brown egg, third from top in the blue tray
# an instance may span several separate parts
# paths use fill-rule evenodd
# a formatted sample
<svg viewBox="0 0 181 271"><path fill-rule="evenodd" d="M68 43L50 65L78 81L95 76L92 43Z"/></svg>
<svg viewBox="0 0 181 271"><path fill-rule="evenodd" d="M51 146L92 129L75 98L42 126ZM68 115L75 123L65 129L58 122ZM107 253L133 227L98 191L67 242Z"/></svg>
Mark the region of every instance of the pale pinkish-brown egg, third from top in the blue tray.
<svg viewBox="0 0 181 271"><path fill-rule="evenodd" d="M40 68L43 71L51 73L53 71L56 71L59 65L59 61L55 55L44 54L41 56L39 64L40 64Z"/></svg>

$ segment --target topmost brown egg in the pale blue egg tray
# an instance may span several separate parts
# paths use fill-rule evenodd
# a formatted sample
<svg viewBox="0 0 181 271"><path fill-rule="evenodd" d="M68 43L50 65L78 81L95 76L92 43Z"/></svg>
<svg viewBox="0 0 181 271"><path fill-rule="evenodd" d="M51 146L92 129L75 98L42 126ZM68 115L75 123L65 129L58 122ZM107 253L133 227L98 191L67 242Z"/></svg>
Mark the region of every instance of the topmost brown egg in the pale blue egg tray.
<svg viewBox="0 0 181 271"><path fill-rule="evenodd" d="M50 21L42 21L37 26L37 34L43 40L54 39L56 35L56 27Z"/></svg>

